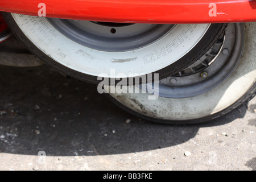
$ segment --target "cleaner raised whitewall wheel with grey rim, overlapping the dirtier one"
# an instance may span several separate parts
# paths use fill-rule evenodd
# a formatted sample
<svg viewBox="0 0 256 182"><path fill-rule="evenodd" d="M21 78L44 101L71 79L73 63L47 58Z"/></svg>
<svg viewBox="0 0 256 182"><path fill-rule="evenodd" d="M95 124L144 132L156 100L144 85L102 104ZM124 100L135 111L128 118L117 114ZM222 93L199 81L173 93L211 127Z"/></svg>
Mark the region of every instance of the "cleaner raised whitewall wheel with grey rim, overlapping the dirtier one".
<svg viewBox="0 0 256 182"><path fill-rule="evenodd" d="M35 55L68 76L94 83L100 82L97 77L102 73L115 79L149 73L164 78L179 72L205 53L225 28L225 24L113 27L113 23L2 14L14 34ZM126 44L129 46L123 46Z"/></svg>

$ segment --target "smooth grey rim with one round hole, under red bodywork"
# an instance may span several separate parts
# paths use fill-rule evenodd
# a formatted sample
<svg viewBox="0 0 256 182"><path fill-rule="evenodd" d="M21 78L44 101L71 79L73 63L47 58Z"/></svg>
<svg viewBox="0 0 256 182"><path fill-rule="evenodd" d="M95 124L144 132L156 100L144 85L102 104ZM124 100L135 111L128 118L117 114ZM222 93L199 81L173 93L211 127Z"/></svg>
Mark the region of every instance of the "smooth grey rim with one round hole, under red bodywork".
<svg viewBox="0 0 256 182"><path fill-rule="evenodd" d="M175 24L131 24L48 18L63 35L100 51L130 51L162 38Z"/></svg>

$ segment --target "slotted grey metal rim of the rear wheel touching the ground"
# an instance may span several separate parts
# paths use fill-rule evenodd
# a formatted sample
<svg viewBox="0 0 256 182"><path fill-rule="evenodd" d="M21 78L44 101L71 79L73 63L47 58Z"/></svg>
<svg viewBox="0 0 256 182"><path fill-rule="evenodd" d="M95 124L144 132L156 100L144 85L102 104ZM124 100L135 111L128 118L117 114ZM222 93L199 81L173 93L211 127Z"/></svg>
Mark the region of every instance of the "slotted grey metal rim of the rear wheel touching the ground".
<svg viewBox="0 0 256 182"><path fill-rule="evenodd" d="M245 44L242 24L230 24L212 48L194 64L160 80L159 96L193 97L224 82L237 67Z"/></svg>

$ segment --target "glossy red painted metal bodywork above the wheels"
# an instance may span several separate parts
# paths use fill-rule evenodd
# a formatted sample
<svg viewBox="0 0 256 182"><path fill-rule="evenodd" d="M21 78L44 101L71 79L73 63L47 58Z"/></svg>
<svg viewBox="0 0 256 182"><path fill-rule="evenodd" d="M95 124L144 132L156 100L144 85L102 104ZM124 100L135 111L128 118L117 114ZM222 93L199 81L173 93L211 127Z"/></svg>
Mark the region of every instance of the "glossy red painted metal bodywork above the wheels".
<svg viewBox="0 0 256 182"><path fill-rule="evenodd" d="M129 23L222 23L256 21L255 0L1 0L0 11Z"/></svg>

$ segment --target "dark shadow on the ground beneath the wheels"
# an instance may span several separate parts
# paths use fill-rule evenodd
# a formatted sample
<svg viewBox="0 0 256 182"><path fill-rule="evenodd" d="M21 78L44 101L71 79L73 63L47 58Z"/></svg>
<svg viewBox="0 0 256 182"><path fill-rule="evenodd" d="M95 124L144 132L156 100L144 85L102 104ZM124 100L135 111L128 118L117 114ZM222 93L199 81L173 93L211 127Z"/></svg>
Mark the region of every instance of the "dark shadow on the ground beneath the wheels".
<svg viewBox="0 0 256 182"><path fill-rule="evenodd" d="M64 77L42 65L0 66L0 152L37 155L108 155L174 146L200 127L242 118L246 108L202 125L170 126L135 117L97 86ZM130 119L126 123L125 119Z"/></svg>

